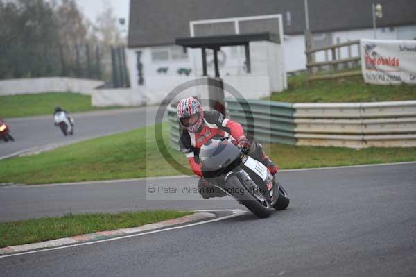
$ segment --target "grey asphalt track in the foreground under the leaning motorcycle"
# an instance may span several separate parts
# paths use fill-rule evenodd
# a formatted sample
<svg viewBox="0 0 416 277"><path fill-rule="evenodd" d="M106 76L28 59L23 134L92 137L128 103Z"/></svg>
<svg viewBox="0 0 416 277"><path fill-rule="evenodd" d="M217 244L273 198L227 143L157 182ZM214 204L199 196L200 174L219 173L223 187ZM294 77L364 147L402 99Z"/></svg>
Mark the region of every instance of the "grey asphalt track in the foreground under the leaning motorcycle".
<svg viewBox="0 0 416 277"><path fill-rule="evenodd" d="M111 242L0 258L1 276L415 276L416 163L279 174L288 210ZM241 208L234 201L150 201L146 185L1 187L2 220L65 212Z"/></svg>

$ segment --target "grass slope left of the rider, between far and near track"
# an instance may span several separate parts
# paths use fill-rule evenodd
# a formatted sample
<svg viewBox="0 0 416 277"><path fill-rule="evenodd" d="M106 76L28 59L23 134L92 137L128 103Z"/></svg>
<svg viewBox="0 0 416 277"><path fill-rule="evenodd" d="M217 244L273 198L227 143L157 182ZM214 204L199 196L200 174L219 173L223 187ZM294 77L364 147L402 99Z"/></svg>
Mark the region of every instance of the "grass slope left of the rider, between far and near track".
<svg viewBox="0 0 416 277"><path fill-rule="evenodd" d="M164 124L168 142L168 125ZM173 156L184 165L179 151ZM179 174L159 153L154 127L100 137L35 156L0 161L0 183L63 183Z"/></svg>

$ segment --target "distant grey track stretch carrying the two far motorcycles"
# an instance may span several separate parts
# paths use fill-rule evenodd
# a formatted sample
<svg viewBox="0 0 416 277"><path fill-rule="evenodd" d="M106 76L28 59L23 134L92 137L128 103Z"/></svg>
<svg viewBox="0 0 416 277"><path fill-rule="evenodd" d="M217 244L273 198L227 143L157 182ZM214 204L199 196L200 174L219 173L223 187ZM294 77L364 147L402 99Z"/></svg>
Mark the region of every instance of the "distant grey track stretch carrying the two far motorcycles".
<svg viewBox="0 0 416 277"><path fill-rule="evenodd" d="M45 145L66 144L154 124L157 108L149 106L70 113L75 119L75 134L68 137L64 137L60 128L54 126L52 112L50 116L6 119L15 142L0 141L0 158Z"/></svg>

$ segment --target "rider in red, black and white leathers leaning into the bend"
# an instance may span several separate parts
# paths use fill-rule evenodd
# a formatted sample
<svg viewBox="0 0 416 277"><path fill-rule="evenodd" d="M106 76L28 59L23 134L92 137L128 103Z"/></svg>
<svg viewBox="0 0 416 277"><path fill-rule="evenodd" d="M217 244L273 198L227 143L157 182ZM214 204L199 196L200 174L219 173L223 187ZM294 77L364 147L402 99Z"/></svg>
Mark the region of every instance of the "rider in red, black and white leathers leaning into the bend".
<svg viewBox="0 0 416 277"><path fill-rule="evenodd" d="M230 137L244 153L268 167L272 175L276 174L278 167L266 156L263 146L255 142L250 143L238 122L227 119L216 110L204 111L200 102L193 97L184 98L177 104L177 117L184 127L180 137L180 148L187 156L192 171L200 176L198 192L204 199L227 195L202 177L198 154L200 147L213 137Z"/></svg>

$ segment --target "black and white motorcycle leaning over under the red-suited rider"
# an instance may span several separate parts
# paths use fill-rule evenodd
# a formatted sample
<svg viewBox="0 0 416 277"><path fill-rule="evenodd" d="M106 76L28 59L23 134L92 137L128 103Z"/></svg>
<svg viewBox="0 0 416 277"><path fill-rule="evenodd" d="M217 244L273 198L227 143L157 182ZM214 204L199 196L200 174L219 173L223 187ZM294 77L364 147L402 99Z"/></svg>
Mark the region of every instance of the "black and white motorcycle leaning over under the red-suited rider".
<svg viewBox="0 0 416 277"><path fill-rule="evenodd" d="M245 155L227 138L209 140L201 147L199 157L204 178L254 215L268 217L273 210L288 207L286 190L268 168Z"/></svg>

